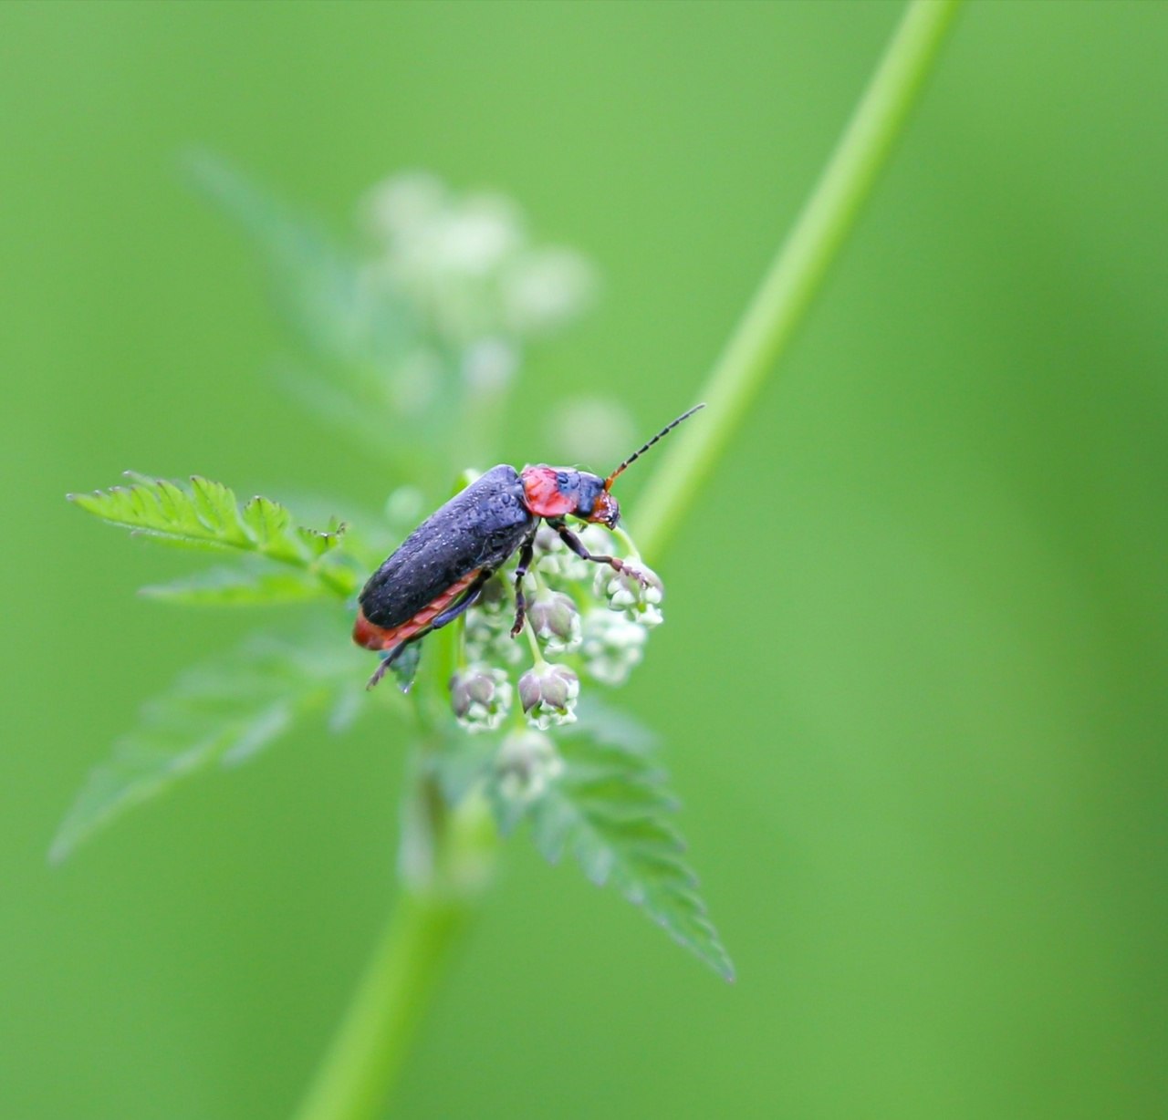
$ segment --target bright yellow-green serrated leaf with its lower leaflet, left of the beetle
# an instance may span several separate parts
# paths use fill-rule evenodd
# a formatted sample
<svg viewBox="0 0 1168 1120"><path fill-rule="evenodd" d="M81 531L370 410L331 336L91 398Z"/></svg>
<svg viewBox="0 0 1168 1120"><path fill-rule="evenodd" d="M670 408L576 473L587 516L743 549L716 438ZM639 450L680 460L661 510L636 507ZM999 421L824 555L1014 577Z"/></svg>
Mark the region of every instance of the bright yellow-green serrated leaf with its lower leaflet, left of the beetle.
<svg viewBox="0 0 1168 1120"><path fill-rule="evenodd" d="M199 475L192 476L189 487L132 472L126 478L128 486L68 498L88 513L134 534L189 548L238 550L300 569L301 590L315 584L318 593L341 598L356 590L357 571L339 548L345 531L341 524L334 522L327 530L303 528L294 524L283 506L267 498L252 498L241 508L234 491ZM150 589L147 593L200 603L307 598L293 593L294 584L291 579L265 580L242 572L235 584L222 575L208 575L169 589ZM250 598L242 592L242 585L251 589Z"/></svg>

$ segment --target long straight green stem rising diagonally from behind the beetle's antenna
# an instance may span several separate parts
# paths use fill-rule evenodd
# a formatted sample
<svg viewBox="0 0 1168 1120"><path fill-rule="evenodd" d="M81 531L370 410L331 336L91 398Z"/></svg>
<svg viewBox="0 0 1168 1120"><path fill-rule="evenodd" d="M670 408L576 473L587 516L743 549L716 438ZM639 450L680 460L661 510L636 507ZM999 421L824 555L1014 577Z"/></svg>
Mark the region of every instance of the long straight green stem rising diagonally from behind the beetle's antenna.
<svg viewBox="0 0 1168 1120"><path fill-rule="evenodd" d="M960 0L913 0L843 135L746 308L700 399L705 418L666 448L638 503L637 540L654 559L791 342L901 134Z"/></svg>

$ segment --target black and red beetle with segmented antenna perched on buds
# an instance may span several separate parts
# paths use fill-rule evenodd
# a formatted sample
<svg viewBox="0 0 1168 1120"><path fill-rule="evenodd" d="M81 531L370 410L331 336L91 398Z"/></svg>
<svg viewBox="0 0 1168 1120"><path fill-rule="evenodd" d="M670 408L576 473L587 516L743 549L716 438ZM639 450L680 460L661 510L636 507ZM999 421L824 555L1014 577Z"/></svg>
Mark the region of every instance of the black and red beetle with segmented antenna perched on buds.
<svg viewBox="0 0 1168 1120"><path fill-rule="evenodd" d="M568 528L565 519L616 529L620 506L612 496L612 484L701 408L704 405L697 404L667 424L607 478L545 462L522 471L500 464L434 510L369 577L357 598L360 608L353 640L383 654L377 672L369 679L369 688L408 646L453 622L470 608L486 582L516 551L512 636L517 636L527 611L523 577L531 564L541 521L547 521L577 556L607 564L645 584L646 577L619 557L590 552Z"/></svg>

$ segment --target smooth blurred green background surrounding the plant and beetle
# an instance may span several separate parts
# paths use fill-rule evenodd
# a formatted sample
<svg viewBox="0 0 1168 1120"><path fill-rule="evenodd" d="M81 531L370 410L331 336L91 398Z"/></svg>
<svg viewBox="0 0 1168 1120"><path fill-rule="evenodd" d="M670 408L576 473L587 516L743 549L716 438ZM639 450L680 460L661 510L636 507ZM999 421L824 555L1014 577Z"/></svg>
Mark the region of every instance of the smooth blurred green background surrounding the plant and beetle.
<svg viewBox="0 0 1168 1120"><path fill-rule="evenodd" d="M197 564L63 493L394 481L272 397L262 270L179 153L336 229L425 167L591 255L603 304L508 422L510 461L555 461L566 394L638 432L697 395L898 12L0 6L0 1115L286 1115L392 882L401 744L369 728L46 864L139 703L257 621L135 598ZM620 700L738 982L520 840L402 1115L1164 1115L1166 57L1162 4L964 11L660 564Z"/></svg>

